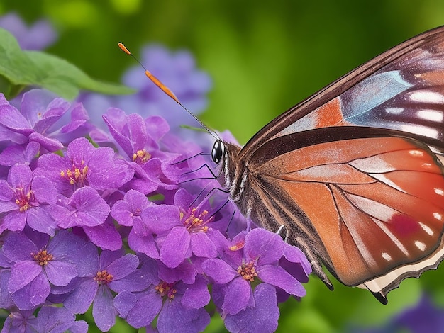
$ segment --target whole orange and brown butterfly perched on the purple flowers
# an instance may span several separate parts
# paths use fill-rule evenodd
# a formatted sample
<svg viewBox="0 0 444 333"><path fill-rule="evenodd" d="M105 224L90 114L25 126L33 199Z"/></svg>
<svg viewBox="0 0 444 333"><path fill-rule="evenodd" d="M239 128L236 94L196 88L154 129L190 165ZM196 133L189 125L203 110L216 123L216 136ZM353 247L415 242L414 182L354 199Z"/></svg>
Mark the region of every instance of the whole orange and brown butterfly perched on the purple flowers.
<svg viewBox="0 0 444 333"><path fill-rule="evenodd" d="M407 40L279 115L244 147L216 140L243 215L306 254L333 290L381 302L444 258L444 26Z"/></svg>

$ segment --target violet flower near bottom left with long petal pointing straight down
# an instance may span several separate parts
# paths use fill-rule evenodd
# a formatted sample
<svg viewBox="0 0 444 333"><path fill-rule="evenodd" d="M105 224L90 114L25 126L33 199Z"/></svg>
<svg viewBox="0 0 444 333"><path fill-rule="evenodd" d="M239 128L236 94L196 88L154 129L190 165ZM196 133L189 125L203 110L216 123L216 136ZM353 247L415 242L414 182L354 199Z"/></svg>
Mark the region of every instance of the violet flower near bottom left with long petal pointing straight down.
<svg viewBox="0 0 444 333"><path fill-rule="evenodd" d="M77 288L65 300L65 307L74 313L84 313L92 303L92 314L101 331L109 330L115 323L116 310L111 290L120 293L137 290L140 274L134 275L139 264L134 254L123 255L121 251L103 251L100 257L89 258Z"/></svg>

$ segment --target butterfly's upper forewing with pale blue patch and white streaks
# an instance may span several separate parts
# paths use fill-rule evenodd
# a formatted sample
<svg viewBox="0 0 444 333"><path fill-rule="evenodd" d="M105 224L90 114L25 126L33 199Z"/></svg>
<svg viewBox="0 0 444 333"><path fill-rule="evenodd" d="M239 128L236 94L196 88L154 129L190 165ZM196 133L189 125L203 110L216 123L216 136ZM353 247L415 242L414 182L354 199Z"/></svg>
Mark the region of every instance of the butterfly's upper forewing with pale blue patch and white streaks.
<svg viewBox="0 0 444 333"><path fill-rule="evenodd" d="M248 159L274 137L342 125L409 132L444 155L444 26L393 47L290 108L239 157Z"/></svg>

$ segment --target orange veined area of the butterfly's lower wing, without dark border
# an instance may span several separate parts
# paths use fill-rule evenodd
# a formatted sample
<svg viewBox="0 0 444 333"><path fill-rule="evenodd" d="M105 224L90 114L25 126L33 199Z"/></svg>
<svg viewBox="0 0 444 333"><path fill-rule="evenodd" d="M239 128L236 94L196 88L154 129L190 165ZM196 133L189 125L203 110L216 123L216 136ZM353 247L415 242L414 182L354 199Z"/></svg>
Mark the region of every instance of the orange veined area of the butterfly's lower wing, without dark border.
<svg viewBox="0 0 444 333"><path fill-rule="evenodd" d="M283 154L261 171L306 213L348 286L420 261L440 244L443 169L414 140L326 142Z"/></svg>

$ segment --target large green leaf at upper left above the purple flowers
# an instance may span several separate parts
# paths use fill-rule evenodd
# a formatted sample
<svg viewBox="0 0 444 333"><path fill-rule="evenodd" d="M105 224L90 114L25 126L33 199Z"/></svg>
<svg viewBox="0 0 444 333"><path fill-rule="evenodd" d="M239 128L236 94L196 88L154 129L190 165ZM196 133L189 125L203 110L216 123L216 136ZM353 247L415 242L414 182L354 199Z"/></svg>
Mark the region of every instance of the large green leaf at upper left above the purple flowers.
<svg viewBox="0 0 444 333"><path fill-rule="evenodd" d="M26 86L40 86L66 99L81 89L102 94L131 94L126 86L91 79L70 62L38 51L23 51L7 30L0 28L1 89L7 97Z"/></svg>

